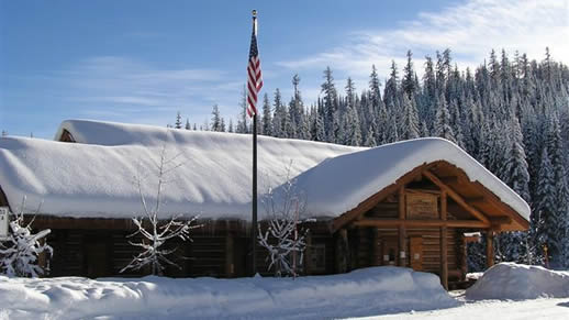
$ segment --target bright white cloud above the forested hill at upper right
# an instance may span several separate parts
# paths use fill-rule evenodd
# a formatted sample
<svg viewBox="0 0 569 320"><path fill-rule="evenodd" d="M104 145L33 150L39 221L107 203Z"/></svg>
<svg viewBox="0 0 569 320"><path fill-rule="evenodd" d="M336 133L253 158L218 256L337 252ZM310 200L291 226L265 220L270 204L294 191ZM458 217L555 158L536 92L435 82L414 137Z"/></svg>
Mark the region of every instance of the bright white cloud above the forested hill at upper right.
<svg viewBox="0 0 569 320"><path fill-rule="evenodd" d="M414 53L415 69L423 57L449 47L460 67L476 66L492 48L515 51L542 59L549 46L553 57L569 57L568 0L470 0L440 12L421 12L416 19L391 30L366 30L347 35L346 44L298 60L281 62L290 69L322 69L330 65L364 79L375 64L386 75L395 59L404 63ZM567 62L567 60L566 60Z"/></svg>

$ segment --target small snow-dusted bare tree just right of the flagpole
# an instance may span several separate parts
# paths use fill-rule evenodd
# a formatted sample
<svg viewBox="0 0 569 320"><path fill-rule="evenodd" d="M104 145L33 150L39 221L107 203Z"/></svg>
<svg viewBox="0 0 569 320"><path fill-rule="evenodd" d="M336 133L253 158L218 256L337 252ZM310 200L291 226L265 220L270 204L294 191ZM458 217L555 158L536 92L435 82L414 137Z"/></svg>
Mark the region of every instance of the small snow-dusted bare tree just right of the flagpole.
<svg viewBox="0 0 569 320"><path fill-rule="evenodd" d="M290 179L290 165L286 183L277 191L269 188L263 203L268 225L263 230L261 224L258 224L257 239L268 251L269 269L274 268L278 277L294 277L302 269L309 230L299 227L303 222L301 213L304 211L305 201L297 192L294 181Z"/></svg>

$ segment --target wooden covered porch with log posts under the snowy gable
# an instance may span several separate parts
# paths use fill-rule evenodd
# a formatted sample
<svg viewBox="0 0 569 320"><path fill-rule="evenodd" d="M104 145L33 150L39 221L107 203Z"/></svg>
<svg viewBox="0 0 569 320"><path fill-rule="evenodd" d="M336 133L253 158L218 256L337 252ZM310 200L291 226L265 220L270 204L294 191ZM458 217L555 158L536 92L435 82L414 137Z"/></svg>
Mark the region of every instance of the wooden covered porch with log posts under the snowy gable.
<svg viewBox="0 0 569 320"><path fill-rule="evenodd" d="M486 238L493 265L493 236L527 230L528 222L460 168L439 161L423 164L332 222L335 269L393 265L439 275L440 283L464 282L466 243Z"/></svg>

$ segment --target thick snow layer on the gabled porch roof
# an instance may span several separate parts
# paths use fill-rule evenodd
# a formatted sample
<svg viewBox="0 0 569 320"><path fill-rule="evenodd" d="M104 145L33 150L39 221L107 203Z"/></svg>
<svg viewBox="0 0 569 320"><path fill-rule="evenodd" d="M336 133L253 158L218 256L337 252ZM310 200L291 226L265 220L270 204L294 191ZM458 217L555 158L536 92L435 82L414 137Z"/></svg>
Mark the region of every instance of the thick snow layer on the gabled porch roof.
<svg viewBox="0 0 569 320"><path fill-rule="evenodd" d="M322 162L295 178L306 212L338 216L393 184L412 169L436 161L461 168L526 220L529 206L502 180L450 141L424 137L386 144Z"/></svg>

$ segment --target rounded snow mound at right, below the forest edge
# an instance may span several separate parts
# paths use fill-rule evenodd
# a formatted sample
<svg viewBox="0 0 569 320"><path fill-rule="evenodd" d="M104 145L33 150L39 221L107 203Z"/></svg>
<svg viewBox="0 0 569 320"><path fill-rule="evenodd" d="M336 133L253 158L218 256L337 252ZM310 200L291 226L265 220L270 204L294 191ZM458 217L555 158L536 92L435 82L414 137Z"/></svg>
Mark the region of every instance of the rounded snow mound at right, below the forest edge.
<svg viewBox="0 0 569 320"><path fill-rule="evenodd" d="M501 263L466 291L468 299L535 299L569 297L569 273L540 266Z"/></svg>

